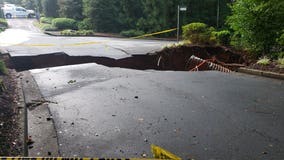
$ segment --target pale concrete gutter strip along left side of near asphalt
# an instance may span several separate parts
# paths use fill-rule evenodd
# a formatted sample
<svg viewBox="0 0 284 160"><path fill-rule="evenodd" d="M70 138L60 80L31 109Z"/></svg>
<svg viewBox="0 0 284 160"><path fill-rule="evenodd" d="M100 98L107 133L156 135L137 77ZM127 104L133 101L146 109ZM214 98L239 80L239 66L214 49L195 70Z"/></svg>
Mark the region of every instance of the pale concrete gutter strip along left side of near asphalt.
<svg viewBox="0 0 284 160"><path fill-rule="evenodd" d="M26 106L44 101L36 81L29 71L20 72L22 89ZM48 104L40 103L28 108L28 135L34 144L28 150L28 156L57 157L59 156L58 139L54 121Z"/></svg>

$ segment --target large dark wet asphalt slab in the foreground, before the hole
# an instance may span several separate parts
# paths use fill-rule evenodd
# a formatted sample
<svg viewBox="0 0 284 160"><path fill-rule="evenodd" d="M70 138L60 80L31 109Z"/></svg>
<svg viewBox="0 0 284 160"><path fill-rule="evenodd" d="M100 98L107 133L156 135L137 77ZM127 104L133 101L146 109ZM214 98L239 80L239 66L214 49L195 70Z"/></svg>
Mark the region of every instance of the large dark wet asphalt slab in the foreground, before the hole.
<svg viewBox="0 0 284 160"><path fill-rule="evenodd" d="M284 157L284 81L220 72L158 72L97 64L32 70L62 156Z"/></svg>

